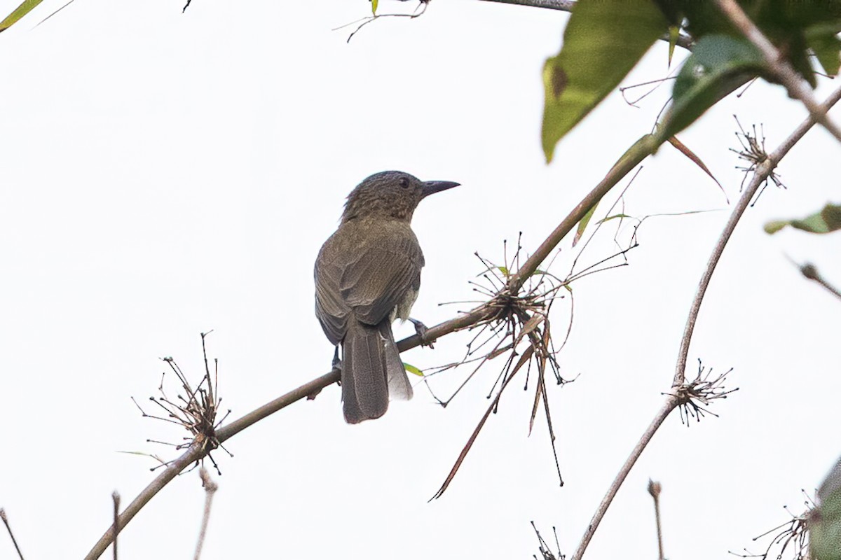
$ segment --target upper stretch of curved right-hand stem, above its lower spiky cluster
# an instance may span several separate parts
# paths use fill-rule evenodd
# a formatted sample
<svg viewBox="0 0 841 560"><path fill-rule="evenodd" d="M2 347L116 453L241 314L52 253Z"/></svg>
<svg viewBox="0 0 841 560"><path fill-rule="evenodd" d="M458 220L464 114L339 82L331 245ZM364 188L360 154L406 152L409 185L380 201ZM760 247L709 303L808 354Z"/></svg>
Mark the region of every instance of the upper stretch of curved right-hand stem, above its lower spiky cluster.
<svg viewBox="0 0 841 560"><path fill-rule="evenodd" d="M827 100L823 102L821 106L822 110L824 112L827 111L830 107L833 107L839 99L841 99L841 87L836 89L827 98ZM689 345L692 339L692 332L695 330L698 312L701 311L701 301L704 299L707 286L710 285L712 272L716 269L718 259L721 259L724 247L727 245L727 241L730 239L730 236L733 235L733 230L736 228L736 224L738 224L742 214L748 208L748 205L750 204L750 201L756 191L759 189L759 186L768 179L771 173L774 172L775 167L780 164L780 160L785 157L785 154L789 153L789 150L791 150L791 148L793 148L794 145L803 138L803 135L806 134L814 124L814 117L810 113L809 118L803 121L801 125L797 127L793 133L791 133L791 136L785 139L785 141L780 144L773 153L769 154L767 160L757 165L754 177L751 179L747 188L743 191L742 196L738 199L736 206L733 207L730 219L727 220L727 225L724 227L724 231L722 231L721 235L718 237L715 248L712 249L712 254L710 255L710 259L707 261L704 274L701 275L701 282L698 284L698 290L696 290L695 298L692 300L689 316L686 317L686 327L684 328L683 337L680 338L678 360L674 367L673 386L683 385L684 383L686 375L686 360L689 356Z"/></svg>

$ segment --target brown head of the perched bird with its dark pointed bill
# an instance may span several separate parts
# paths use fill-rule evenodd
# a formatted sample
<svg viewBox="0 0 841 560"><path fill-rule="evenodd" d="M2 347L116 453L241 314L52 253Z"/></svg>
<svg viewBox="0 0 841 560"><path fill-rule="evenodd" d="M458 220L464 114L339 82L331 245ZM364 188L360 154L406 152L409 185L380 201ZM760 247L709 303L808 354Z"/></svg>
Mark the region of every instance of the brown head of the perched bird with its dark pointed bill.
<svg viewBox="0 0 841 560"><path fill-rule="evenodd" d="M452 181L421 181L403 171L380 171L359 183L347 196L341 222L384 217L410 222L418 204L431 194L452 189Z"/></svg>

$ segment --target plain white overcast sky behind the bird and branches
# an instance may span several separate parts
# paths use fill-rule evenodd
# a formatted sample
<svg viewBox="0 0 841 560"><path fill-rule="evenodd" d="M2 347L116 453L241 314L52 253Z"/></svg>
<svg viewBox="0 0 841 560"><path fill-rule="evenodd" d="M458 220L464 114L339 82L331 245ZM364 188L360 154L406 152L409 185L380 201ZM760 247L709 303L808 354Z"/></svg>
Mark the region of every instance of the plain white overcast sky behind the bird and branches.
<svg viewBox="0 0 841 560"><path fill-rule="evenodd" d="M352 28L332 29L366 16L365 0L195 0L183 14L175 2L79 0L34 29L62 3L46 0L0 35L0 507L27 560L82 557L108 527L111 492L128 503L151 480L151 458L119 451L176 456L145 440L182 432L141 418L130 396L156 394L164 356L198 379L200 332L214 329L209 354L231 418L330 369L312 264L365 176L399 169L463 184L415 212L426 269L414 315L433 325L468 308L439 303L475 299L473 252L500 262L518 232L526 252L536 248L668 97L663 87L635 108L611 96L547 166L540 72L568 14L439 0L347 44ZM17 4L3 0L0 13ZM623 83L663 77L666 56L657 44ZM817 97L832 87L822 79ZM733 113L764 123L769 149L805 117L779 87L756 83L680 135L731 201L742 178L727 150L738 147ZM838 145L812 130L780 167L788 190L770 187L744 217L690 351L691 370L698 358L733 368L728 385L740 390L713 406L720 418L686 428L669 417L587 557L656 557L649 477L664 487L669 557L759 552L751 538L786 521L784 505L799 513L800 489L817 487L841 453L838 300L785 258L811 260L841 284L838 235L761 229L838 201L837 169ZM669 146L624 202L637 217L715 212L647 220L630 266L574 284L573 333L558 359L579 377L549 387L563 488L545 423L527 437L532 383L506 392L450 489L427 503L501 364L447 409L418 385L414 400L354 427L331 386L231 439L235 458L214 453L223 475L203 557L530 558L529 521L544 537L557 526L562 552L573 552L669 388L729 213L718 187ZM582 259L616 249L617 223ZM557 275L577 254L569 245ZM560 332L569 301L553 313ZM447 363L469 337L405 361ZM446 395L468 373L431 382ZM203 500L196 472L173 481L120 535L120 557L192 557ZM0 557L12 556L0 537Z"/></svg>

